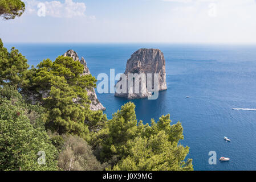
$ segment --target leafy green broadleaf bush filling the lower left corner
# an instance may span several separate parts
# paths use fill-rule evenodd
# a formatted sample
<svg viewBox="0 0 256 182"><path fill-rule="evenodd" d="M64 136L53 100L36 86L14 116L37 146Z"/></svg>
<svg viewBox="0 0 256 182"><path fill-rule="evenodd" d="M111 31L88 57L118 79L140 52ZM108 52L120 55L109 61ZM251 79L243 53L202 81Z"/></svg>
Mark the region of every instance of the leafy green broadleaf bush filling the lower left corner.
<svg viewBox="0 0 256 182"><path fill-rule="evenodd" d="M40 109L25 104L9 86L0 88L0 170L56 170L58 152L43 125ZM45 164L37 155L44 151Z"/></svg>

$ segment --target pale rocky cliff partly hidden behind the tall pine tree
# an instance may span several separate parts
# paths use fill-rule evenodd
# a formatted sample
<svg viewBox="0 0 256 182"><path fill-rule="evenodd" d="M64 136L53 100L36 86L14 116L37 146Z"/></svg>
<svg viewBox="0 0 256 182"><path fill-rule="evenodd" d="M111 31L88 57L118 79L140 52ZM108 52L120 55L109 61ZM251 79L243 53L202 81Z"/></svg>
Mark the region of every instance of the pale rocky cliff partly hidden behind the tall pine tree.
<svg viewBox="0 0 256 182"><path fill-rule="evenodd" d="M63 56L72 57L75 61L80 61L81 64L84 65L84 71L82 75L89 75L91 74L89 71L89 68L86 65L86 60L82 57L81 60L79 60L78 54L73 50L68 50L66 53L64 53ZM90 109L91 110L105 110L105 107L100 103L100 101L97 99L97 95L95 93L95 89L86 89L87 96L91 100Z"/></svg>

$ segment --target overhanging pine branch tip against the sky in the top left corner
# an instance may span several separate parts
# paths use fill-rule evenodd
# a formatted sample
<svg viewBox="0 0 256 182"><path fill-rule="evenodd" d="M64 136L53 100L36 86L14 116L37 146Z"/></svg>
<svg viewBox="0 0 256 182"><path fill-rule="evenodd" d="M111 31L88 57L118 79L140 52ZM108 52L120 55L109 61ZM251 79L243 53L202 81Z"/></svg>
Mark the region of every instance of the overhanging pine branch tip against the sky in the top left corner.
<svg viewBox="0 0 256 182"><path fill-rule="evenodd" d="M25 3L21 0L0 0L0 16L4 19L14 19L25 11Z"/></svg>

